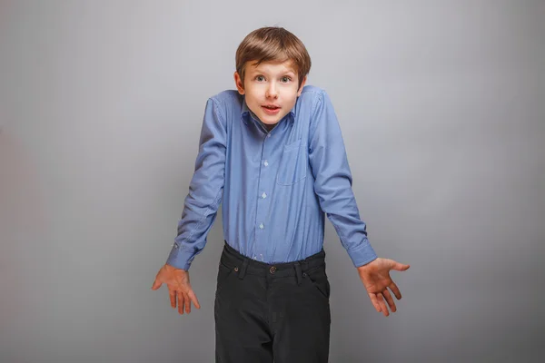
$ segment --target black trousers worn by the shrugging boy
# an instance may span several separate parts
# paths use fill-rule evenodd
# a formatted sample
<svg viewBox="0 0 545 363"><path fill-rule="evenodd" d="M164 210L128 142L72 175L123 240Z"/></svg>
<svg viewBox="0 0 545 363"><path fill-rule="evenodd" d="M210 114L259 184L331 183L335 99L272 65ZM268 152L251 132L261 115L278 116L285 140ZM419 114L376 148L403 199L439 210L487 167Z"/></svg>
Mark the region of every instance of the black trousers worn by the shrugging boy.
<svg viewBox="0 0 545 363"><path fill-rule="evenodd" d="M323 250L270 265L225 242L214 302L216 363L326 363L329 298Z"/></svg>

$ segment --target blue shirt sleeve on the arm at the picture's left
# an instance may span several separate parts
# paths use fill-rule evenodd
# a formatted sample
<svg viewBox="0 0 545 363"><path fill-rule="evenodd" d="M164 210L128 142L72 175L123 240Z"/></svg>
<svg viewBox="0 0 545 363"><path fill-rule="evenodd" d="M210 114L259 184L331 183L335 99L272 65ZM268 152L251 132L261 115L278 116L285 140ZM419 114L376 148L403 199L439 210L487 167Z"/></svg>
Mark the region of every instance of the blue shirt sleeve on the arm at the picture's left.
<svg viewBox="0 0 545 363"><path fill-rule="evenodd" d="M189 270L205 244L223 196L227 132L225 120L212 98L206 103L199 153L185 197L178 235L166 261L177 269Z"/></svg>

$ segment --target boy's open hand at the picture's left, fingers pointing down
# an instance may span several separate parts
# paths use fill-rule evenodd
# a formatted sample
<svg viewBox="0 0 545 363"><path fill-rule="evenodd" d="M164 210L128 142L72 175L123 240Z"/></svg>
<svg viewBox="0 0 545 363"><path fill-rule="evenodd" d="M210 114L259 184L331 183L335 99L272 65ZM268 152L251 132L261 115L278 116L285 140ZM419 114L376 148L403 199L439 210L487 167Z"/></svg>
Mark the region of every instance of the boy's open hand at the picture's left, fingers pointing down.
<svg viewBox="0 0 545 363"><path fill-rule="evenodd" d="M170 265L164 265L157 276L155 276L154 285L152 289L159 289L163 282L168 287L168 293L171 299L171 306L176 308L176 300L178 303L178 312L183 314L183 308L188 314L191 312L191 303L197 309L201 309L199 300L193 292L191 284L189 283L189 272L182 269L176 269Z"/></svg>

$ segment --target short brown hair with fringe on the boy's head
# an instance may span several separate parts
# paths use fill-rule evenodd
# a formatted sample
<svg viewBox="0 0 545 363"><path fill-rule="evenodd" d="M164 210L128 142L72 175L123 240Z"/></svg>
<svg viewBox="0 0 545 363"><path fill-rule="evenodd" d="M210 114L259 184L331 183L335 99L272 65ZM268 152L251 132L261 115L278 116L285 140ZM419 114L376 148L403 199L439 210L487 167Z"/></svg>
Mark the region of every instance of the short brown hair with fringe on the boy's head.
<svg viewBox="0 0 545 363"><path fill-rule="evenodd" d="M256 65L263 62L292 61L297 72L299 86L302 79L311 70L311 56L301 40L286 29L277 26L265 26L246 35L238 46L235 55L236 71L244 83L244 66L246 62L255 61Z"/></svg>

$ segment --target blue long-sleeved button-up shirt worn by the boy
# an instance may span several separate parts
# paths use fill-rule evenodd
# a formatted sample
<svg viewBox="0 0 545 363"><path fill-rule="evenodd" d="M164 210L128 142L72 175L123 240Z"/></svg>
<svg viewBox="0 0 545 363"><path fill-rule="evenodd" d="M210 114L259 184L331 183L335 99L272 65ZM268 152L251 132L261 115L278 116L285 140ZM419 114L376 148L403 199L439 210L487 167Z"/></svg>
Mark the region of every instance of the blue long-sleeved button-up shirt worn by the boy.
<svg viewBox="0 0 545 363"><path fill-rule="evenodd" d="M324 213L355 267L377 258L352 193L342 133L325 91L304 86L268 132L244 96L208 99L199 152L167 264L189 270L206 244L220 202L224 240L266 263L320 252Z"/></svg>

